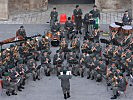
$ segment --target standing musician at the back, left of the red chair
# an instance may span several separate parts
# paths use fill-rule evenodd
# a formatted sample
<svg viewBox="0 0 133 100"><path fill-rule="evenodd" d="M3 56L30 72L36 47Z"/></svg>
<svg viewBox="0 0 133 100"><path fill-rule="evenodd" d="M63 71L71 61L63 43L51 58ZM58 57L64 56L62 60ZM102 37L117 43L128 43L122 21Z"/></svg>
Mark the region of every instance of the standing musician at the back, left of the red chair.
<svg viewBox="0 0 133 100"><path fill-rule="evenodd" d="M56 11L56 8L53 8L53 11L50 13L50 26L52 26L56 20L58 20L58 12Z"/></svg>

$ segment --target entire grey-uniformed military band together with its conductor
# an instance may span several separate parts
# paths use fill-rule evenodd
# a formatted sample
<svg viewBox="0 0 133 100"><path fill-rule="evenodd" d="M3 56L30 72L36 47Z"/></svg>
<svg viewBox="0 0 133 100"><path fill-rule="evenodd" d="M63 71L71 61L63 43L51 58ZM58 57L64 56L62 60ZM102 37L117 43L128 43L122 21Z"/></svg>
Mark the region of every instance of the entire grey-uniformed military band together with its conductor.
<svg viewBox="0 0 133 100"><path fill-rule="evenodd" d="M79 5L76 6L73 14L76 33L81 34L82 10ZM63 26L57 21L58 13L55 8L50 16L54 21L51 24L51 32L54 36ZM89 20L90 16L100 18L100 12L96 6L85 15L84 20ZM86 25L88 23L85 22ZM26 32L23 27L20 28L22 29L17 34L25 38ZM17 95L17 91L22 91L29 74L32 74L33 81L40 80L42 69L45 76L56 74L61 80L71 79L70 75L65 75L64 70L71 71L74 76L87 77L96 82L106 80L107 87L112 90L111 99L120 96L121 91L125 92L128 85L127 78L133 75L132 34L123 35L123 40L119 42L119 34L112 31L111 39L104 48L99 40L101 34L99 27L95 26L92 32L86 28L86 33L82 34L83 40L74 34L74 23L70 17L63 28L67 34L57 39L59 44L56 53L51 49L53 38L46 34L40 39L31 37L25 39L20 45L10 45L9 48L1 50L0 77L3 79L3 88L7 90L6 94ZM54 54L53 58L51 54ZM61 71L64 76L60 75ZM70 84L69 82L66 83L67 85L64 84L62 83L62 90L66 99L70 97Z"/></svg>

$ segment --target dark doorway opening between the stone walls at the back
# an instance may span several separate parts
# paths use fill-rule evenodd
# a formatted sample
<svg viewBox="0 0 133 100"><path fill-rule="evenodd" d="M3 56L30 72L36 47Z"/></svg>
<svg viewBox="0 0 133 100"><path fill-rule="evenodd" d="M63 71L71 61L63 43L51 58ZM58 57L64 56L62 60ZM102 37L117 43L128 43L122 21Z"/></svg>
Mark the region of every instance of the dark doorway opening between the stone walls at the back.
<svg viewBox="0 0 133 100"><path fill-rule="evenodd" d="M95 0L49 0L49 4L94 4Z"/></svg>

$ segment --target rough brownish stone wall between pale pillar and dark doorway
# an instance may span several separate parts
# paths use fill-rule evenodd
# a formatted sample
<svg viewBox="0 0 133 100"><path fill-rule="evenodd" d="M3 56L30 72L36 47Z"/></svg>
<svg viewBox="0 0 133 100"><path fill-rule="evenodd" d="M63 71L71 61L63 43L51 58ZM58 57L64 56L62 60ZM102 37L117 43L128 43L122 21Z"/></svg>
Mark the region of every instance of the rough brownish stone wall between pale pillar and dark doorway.
<svg viewBox="0 0 133 100"><path fill-rule="evenodd" d="M9 0L9 13L46 10L48 0Z"/></svg>

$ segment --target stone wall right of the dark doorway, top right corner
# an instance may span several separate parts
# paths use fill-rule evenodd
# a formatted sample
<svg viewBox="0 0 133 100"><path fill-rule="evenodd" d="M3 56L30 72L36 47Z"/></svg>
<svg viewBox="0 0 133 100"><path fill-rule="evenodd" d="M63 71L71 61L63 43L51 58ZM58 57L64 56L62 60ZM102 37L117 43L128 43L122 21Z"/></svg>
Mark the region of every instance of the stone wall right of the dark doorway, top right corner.
<svg viewBox="0 0 133 100"><path fill-rule="evenodd" d="M103 11L120 11L131 9L132 0L95 0L96 5Z"/></svg>

